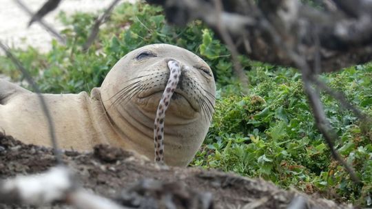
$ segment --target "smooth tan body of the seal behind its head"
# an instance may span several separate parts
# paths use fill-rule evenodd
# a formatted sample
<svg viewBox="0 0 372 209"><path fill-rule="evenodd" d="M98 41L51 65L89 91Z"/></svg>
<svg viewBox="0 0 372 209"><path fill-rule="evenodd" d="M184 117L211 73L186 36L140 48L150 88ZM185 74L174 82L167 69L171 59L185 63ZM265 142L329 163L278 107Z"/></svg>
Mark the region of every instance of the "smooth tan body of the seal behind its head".
<svg viewBox="0 0 372 209"><path fill-rule="evenodd" d="M41 108L37 94L24 90L7 81L3 86L18 89L0 104L0 128L25 143L50 146L48 121ZM99 90L79 94L43 94L54 121L56 138L63 149L90 150L97 143L110 143L115 132L105 115ZM102 114L99 114L101 112ZM117 138L117 137L116 137ZM123 146L119 141L113 145ZM124 141L123 141L124 142ZM123 146L125 147L125 146Z"/></svg>

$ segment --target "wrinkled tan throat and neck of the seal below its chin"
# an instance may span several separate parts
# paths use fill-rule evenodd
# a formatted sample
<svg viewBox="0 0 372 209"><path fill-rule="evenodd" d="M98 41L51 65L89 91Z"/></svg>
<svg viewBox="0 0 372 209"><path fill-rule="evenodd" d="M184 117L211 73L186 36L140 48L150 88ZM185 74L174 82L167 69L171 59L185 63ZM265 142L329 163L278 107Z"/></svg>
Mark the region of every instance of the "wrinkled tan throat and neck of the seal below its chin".
<svg viewBox="0 0 372 209"><path fill-rule="evenodd" d="M138 107L134 102L112 106L110 99L99 93L99 88L92 91L92 101L99 101L96 108L101 108L105 117L94 119L96 130L102 133L110 145L154 159L154 119L155 110L148 111ZM173 106L174 107L174 106ZM169 107L172 112L172 106ZM169 112L169 113L170 113ZM105 120L105 121L103 121ZM194 157L207 133L209 123L203 119L180 118L179 115L167 114L165 117L165 163L170 166L187 166Z"/></svg>

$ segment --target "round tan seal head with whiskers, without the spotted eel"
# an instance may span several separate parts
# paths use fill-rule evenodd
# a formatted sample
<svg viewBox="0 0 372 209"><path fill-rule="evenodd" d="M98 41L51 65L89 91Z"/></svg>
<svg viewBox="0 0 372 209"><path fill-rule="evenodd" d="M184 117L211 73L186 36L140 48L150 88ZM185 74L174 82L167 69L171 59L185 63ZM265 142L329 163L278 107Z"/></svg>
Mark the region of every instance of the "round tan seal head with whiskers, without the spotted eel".
<svg viewBox="0 0 372 209"><path fill-rule="evenodd" d="M167 44L138 48L107 74L101 98L125 148L153 159L154 119L170 60L180 63L181 75L165 116L165 163L186 166L203 142L214 110L216 86L203 59Z"/></svg>

